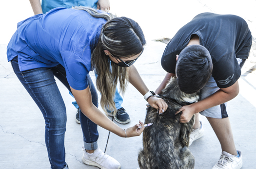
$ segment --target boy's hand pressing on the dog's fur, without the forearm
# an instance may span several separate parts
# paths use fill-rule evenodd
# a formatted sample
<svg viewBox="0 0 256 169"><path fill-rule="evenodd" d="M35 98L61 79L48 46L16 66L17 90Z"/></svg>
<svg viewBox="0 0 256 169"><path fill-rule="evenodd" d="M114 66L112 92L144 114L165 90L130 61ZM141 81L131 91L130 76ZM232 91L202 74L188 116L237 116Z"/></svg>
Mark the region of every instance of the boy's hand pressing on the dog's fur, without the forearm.
<svg viewBox="0 0 256 169"><path fill-rule="evenodd" d="M179 122L181 123L187 123L190 121L190 119L192 118L192 116L195 114L195 113L198 113L198 112L195 112L195 109L193 107L193 104L190 104L190 105L186 105L186 106L182 106L176 113L176 115L182 111L182 114L180 116L180 119L179 119Z"/></svg>

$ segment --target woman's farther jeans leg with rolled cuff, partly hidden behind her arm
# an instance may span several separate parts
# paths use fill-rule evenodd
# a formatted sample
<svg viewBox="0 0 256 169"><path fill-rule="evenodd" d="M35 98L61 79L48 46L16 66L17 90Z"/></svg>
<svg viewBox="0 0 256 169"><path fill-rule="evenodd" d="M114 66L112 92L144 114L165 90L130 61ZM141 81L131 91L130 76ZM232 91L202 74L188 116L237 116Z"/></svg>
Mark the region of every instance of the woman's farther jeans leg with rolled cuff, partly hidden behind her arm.
<svg viewBox="0 0 256 169"><path fill-rule="evenodd" d="M56 67L53 67L52 69L54 75L71 92L70 86L67 82L65 68L61 65L58 65ZM89 74L87 75L87 83L91 91L92 102L96 107L98 107L98 93ZM81 111L79 116L83 132L84 147L86 150L96 150L98 148L98 125L92 122L89 118L87 118Z"/></svg>

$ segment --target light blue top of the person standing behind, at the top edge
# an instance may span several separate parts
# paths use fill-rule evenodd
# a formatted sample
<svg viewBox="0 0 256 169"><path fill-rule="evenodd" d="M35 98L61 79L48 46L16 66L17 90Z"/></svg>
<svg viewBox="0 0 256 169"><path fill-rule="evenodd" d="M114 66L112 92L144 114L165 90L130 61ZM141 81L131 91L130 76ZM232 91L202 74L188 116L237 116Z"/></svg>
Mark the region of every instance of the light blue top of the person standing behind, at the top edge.
<svg viewBox="0 0 256 169"><path fill-rule="evenodd" d="M45 14L53 8L64 7L71 8L72 6L86 6L97 8L98 0L42 0L42 11Z"/></svg>

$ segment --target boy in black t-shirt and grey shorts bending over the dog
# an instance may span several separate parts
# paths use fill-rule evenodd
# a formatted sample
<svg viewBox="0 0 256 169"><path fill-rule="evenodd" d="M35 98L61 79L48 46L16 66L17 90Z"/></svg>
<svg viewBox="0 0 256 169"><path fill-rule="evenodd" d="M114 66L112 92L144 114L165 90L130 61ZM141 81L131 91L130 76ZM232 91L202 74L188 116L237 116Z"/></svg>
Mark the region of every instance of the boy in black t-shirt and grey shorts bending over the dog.
<svg viewBox="0 0 256 169"><path fill-rule="evenodd" d="M202 13L177 32L161 59L168 73L156 90L157 94L171 76L177 76L178 85L185 93L201 89L200 101L179 110L182 111L180 122L188 122L196 114L190 136L192 143L203 135L197 112L206 116L222 148L221 160L213 169L242 167L242 154L236 151L226 102L239 92L240 68L249 56L251 45L251 32L241 17Z"/></svg>

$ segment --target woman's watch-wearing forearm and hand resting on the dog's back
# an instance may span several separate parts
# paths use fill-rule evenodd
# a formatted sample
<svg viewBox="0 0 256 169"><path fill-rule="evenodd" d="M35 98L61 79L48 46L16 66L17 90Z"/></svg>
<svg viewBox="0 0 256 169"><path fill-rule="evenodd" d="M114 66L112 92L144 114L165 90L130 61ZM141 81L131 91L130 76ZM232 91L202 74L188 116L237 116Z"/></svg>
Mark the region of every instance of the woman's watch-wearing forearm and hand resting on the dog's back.
<svg viewBox="0 0 256 169"><path fill-rule="evenodd" d="M134 65L129 67L129 69L129 82L144 96L149 91L146 84L144 84ZM167 103L157 97L150 97L148 103L158 109L159 114L163 113L168 108Z"/></svg>

